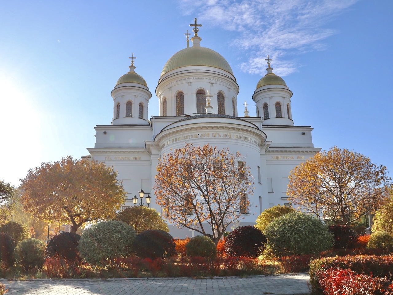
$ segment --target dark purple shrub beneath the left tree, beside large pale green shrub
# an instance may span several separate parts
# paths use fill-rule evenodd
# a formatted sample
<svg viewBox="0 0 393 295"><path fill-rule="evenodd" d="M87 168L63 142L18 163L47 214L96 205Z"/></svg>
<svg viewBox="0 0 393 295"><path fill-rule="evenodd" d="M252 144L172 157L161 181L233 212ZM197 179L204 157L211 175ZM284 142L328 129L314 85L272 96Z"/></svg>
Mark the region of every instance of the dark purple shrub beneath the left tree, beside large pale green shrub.
<svg viewBox="0 0 393 295"><path fill-rule="evenodd" d="M46 245L46 256L59 257L68 261L80 259L77 249L78 241L81 239L79 234L74 232L61 232L51 238Z"/></svg>

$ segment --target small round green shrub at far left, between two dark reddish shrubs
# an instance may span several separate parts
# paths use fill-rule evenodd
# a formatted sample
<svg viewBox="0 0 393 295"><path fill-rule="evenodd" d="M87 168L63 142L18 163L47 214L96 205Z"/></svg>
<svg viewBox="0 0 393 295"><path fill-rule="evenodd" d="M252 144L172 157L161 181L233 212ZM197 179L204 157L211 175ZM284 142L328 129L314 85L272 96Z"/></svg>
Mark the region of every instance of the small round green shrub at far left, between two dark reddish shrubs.
<svg viewBox="0 0 393 295"><path fill-rule="evenodd" d="M40 270L45 263L45 249L45 243L34 238L19 242L14 251L16 264L20 264L24 272Z"/></svg>

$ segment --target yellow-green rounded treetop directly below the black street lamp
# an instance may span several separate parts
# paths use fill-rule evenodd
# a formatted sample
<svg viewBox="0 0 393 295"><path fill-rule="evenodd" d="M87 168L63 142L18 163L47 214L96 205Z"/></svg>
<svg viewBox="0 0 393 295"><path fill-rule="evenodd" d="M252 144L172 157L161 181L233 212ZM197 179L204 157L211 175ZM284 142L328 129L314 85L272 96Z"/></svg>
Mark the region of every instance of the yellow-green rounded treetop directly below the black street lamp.
<svg viewBox="0 0 393 295"><path fill-rule="evenodd" d="M114 219L131 225L137 234L152 229L169 232L168 225L161 214L158 213L156 209L146 206L125 208L116 213Z"/></svg>

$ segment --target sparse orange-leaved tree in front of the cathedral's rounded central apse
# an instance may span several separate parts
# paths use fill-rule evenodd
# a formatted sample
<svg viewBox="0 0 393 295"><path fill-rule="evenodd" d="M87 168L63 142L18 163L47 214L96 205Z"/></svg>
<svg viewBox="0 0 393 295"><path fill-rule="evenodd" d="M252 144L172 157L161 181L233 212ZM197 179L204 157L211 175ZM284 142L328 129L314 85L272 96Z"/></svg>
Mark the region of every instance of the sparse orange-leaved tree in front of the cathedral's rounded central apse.
<svg viewBox="0 0 393 295"><path fill-rule="evenodd" d="M178 227L212 232L217 244L228 225L246 213L253 177L239 153L186 144L163 155L157 171L156 202Z"/></svg>

